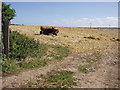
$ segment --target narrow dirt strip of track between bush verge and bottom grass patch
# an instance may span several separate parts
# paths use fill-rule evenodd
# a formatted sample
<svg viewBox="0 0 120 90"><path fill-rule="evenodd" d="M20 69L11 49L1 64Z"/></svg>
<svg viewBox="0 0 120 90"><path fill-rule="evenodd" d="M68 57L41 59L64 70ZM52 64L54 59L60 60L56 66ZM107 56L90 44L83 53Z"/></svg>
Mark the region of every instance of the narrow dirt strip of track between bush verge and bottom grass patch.
<svg viewBox="0 0 120 90"><path fill-rule="evenodd" d="M44 75L47 72L50 72L51 70L57 69L58 67L64 64L70 63L72 61L72 58L68 56L67 58L64 59L64 61L52 62L51 64L44 66L42 68L28 70L21 72L18 75L5 77L3 78L3 87L19 87L20 85L24 85L27 82L35 79L36 76L39 76L41 74Z"/></svg>

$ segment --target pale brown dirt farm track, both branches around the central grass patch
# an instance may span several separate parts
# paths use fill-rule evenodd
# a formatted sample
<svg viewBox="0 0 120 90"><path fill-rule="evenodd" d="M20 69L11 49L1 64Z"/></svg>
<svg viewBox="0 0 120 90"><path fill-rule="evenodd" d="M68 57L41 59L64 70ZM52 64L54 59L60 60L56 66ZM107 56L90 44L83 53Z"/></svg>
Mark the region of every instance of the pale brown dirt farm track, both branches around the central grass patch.
<svg viewBox="0 0 120 90"><path fill-rule="evenodd" d="M46 75L52 70L61 71L72 71L74 72L74 77L77 78L77 85L72 86L73 88L117 88L118 87L118 72L117 72L117 56L107 55L101 62L99 62L99 69L95 72L90 72L89 74L83 74L77 71L76 66L82 63L84 56L89 56L90 54L77 54L72 53L68 57L64 58L63 61L52 62L51 64L41 67L38 69L28 70L19 73L18 75L13 75L10 77L3 78L3 87L7 88L17 88L22 85L27 84L37 80L37 76ZM109 61L109 62L108 62ZM79 62L79 63L78 63ZM42 82L41 82L42 83Z"/></svg>

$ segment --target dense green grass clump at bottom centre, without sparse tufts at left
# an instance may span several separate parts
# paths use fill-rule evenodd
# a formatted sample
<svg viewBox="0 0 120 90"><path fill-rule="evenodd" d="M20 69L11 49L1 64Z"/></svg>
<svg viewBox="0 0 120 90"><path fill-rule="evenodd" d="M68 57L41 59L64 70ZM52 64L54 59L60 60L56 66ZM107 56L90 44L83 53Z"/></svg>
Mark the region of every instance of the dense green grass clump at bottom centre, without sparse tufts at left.
<svg viewBox="0 0 120 90"><path fill-rule="evenodd" d="M76 83L71 71L52 71L48 73L44 88L68 88Z"/></svg>

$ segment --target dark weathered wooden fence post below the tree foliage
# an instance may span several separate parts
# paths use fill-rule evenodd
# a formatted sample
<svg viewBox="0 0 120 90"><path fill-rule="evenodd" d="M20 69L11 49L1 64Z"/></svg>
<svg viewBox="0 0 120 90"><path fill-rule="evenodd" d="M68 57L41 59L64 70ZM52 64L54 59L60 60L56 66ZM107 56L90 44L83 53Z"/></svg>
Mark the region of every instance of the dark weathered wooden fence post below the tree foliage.
<svg viewBox="0 0 120 90"><path fill-rule="evenodd" d="M4 54L8 56L9 51L9 21L3 22L3 44L4 44Z"/></svg>

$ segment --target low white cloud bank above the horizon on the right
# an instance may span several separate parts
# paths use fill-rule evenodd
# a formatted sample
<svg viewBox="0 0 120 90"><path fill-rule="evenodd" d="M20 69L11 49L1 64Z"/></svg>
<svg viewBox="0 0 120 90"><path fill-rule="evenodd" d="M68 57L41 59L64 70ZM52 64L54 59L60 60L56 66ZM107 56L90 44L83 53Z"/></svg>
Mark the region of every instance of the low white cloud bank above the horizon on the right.
<svg viewBox="0 0 120 90"><path fill-rule="evenodd" d="M105 18L80 18L80 19L63 19L59 21L51 22L54 26L67 26L67 27L117 27L117 17L105 17Z"/></svg>

